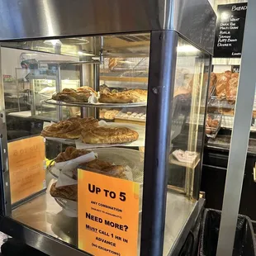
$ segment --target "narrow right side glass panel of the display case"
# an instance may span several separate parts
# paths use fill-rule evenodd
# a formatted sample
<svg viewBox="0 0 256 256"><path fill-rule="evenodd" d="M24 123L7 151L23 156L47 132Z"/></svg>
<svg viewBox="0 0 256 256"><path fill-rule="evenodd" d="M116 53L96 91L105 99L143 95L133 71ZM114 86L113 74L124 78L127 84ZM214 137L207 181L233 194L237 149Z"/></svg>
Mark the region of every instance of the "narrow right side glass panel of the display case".
<svg viewBox="0 0 256 256"><path fill-rule="evenodd" d="M171 150L164 255L168 254L178 227L190 215L199 194L203 126L210 57L179 38L173 92ZM175 227L170 222L177 219Z"/></svg>

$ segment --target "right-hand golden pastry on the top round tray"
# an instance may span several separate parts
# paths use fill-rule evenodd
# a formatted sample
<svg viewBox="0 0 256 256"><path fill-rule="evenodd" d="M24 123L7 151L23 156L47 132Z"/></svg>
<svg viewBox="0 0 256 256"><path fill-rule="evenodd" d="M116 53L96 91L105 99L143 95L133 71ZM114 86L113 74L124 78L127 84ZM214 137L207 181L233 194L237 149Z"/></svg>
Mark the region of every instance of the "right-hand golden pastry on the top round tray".
<svg viewBox="0 0 256 256"><path fill-rule="evenodd" d="M101 93L98 100L102 103L133 103L133 102L146 102L147 91L140 89L127 90L116 93Z"/></svg>

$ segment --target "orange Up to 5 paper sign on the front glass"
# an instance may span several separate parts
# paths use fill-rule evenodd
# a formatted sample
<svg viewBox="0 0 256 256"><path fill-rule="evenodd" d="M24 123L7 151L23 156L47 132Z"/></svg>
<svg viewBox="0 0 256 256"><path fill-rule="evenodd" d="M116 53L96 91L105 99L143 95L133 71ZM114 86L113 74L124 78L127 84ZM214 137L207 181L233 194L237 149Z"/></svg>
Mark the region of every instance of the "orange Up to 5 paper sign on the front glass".
<svg viewBox="0 0 256 256"><path fill-rule="evenodd" d="M78 248L137 255L140 184L78 169Z"/></svg>

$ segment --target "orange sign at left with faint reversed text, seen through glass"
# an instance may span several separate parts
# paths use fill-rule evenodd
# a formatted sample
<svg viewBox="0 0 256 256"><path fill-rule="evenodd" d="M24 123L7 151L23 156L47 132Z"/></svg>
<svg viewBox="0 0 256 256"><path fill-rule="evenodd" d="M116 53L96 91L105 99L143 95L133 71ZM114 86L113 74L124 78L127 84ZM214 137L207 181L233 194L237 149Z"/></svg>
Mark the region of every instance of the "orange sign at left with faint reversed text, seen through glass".
<svg viewBox="0 0 256 256"><path fill-rule="evenodd" d="M45 188L45 142L41 136L8 143L12 203Z"/></svg>

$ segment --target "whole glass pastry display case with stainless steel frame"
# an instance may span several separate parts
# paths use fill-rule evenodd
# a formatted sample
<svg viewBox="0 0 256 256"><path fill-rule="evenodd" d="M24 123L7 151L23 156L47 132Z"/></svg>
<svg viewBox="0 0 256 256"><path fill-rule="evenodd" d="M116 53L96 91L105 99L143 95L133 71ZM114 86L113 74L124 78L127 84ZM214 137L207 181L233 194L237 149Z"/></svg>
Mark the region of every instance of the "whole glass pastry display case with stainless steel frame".
<svg viewBox="0 0 256 256"><path fill-rule="evenodd" d="M195 2L197 8L185 0L168 3L169 21L161 26L155 19L164 14L149 18L143 11L152 2L133 14L137 3L116 2L120 13L129 10L129 24L114 9L105 10L106 1L93 9L96 17L106 14L103 23L115 17L120 26L88 20L92 7L74 2L73 15L84 20L73 19L71 28L62 20L69 5L58 8L54 1L52 12L60 11L51 17L58 17L54 24L64 31L0 38L10 50L54 53L26 75L31 116L22 123L7 121L13 113L6 111L5 88L0 90L0 230L50 255L178 254L203 205L201 160L216 22L208 1ZM198 20L188 22L195 12ZM81 32L87 21L91 26Z"/></svg>

